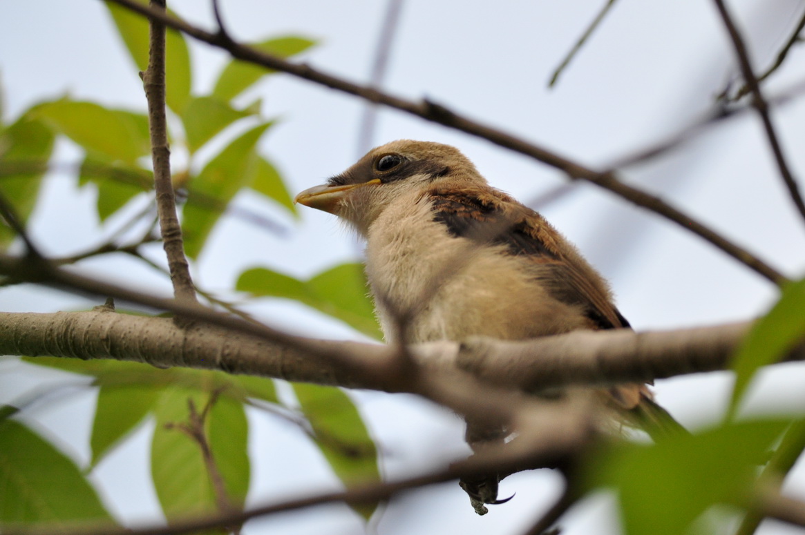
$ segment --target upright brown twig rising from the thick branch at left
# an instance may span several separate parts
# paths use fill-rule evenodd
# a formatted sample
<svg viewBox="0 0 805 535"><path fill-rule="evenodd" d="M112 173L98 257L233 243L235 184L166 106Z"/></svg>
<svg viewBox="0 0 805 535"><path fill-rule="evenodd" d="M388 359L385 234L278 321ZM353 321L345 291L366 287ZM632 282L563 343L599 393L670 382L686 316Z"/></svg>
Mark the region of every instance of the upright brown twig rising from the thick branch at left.
<svg viewBox="0 0 805 535"><path fill-rule="evenodd" d="M151 10L165 13L165 0L151 0ZM151 126L151 158L154 163L154 188L159 212L159 228L171 282L177 299L196 302L196 293L190 277L188 259L184 256L182 228L176 214L176 198L171 181L171 150L167 141L165 118L165 25L151 19L151 45L148 68L142 75L148 101L148 122Z"/></svg>

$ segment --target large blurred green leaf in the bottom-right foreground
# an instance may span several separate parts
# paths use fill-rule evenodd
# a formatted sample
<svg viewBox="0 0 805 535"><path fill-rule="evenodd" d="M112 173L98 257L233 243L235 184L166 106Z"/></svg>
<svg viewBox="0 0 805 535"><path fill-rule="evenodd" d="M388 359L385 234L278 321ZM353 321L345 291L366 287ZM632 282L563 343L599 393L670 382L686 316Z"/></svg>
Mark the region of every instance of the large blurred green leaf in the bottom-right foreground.
<svg viewBox="0 0 805 535"><path fill-rule="evenodd" d="M588 465L593 486L617 489L627 535L676 535L716 504L743 504L788 422L741 422L646 447L621 444Z"/></svg>

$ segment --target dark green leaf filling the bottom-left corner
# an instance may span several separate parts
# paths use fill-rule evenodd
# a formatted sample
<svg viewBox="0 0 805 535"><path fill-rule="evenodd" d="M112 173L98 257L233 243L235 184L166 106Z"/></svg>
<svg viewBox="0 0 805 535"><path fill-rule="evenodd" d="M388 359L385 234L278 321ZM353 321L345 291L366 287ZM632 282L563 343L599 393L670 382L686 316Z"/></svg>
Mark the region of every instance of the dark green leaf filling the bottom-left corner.
<svg viewBox="0 0 805 535"><path fill-rule="evenodd" d="M0 422L0 521L67 526L100 520L113 525L71 459L19 422Z"/></svg>

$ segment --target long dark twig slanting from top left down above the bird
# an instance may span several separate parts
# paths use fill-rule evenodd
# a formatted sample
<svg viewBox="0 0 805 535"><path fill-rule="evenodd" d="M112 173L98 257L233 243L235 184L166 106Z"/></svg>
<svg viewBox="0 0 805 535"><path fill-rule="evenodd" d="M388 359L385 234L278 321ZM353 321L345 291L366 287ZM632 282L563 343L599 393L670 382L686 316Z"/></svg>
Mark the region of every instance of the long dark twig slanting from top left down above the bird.
<svg viewBox="0 0 805 535"><path fill-rule="evenodd" d="M616 195L625 200L637 204L643 208L647 208L660 216L673 221L675 224L686 228L688 231L709 241L718 249L721 249L729 256L740 261L742 264L747 265L750 269L761 274L763 277L769 279L775 284L782 284L787 281L778 270L768 265L765 261L749 253L746 249L733 244L725 237L714 232L711 228L706 227L704 224L691 218L686 213L681 212L679 209L672 207L662 199L654 195L650 195L637 187L621 183L616 175L611 172L598 172L589 169L588 167L581 166L578 163L572 162L568 158L564 158L559 154L555 154L550 150L546 150L540 146L536 146L530 142L526 142L521 138L516 138L502 130L497 130L491 126L486 126L477 121L471 121L465 117L461 117L456 113L444 108L442 105L437 105L431 101L422 101L419 103L407 101L403 98L394 97L388 93L382 93L374 88L368 88L360 84L353 84L347 80L343 80L337 76L331 76L324 72L320 72L307 64L293 64L289 61L283 60L276 56L271 56L263 51L259 51L252 47L238 43L226 43L219 35L209 33L194 27L180 19L176 19L170 15L164 14L158 10L151 10L147 6L142 6L135 0L105 0L107 2L114 2L127 9L136 11L144 16L158 19L165 23L166 26L175 28L190 35L194 39L209 43L217 47L221 47L229 54L238 60L248 61L254 64L260 64L268 68L273 68L277 71L287 72L293 76L297 76L304 80L312 81L316 84L324 85L328 88L336 89L343 93L349 93L357 97L361 97L369 102L374 102L382 105L389 106L390 108L398 109L406 113L411 113L416 117L421 117L427 121L436 122L440 125L449 128L460 130L467 134L475 135L479 138L484 138L489 142L493 142L499 146L506 147L507 149L514 150L520 154L526 154L531 158L535 158L551 167L555 167L560 171L564 171L572 179L581 179L594 183L599 187L612 191Z"/></svg>

